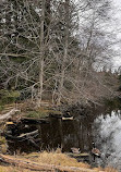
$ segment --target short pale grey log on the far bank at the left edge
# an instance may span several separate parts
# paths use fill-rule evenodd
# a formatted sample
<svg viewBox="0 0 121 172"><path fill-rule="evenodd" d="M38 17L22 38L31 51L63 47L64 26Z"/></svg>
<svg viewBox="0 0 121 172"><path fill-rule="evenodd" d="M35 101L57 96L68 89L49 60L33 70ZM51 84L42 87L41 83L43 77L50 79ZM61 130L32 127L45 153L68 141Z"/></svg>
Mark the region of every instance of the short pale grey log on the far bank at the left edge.
<svg viewBox="0 0 121 172"><path fill-rule="evenodd" d="M12 115L14 115L16 112L20 112L20 110L17 109L12 109L10 112L5 113L5 114L2 114L0 115L0 121L3 121L3 120L9 120L12 118Z"/></svg>

